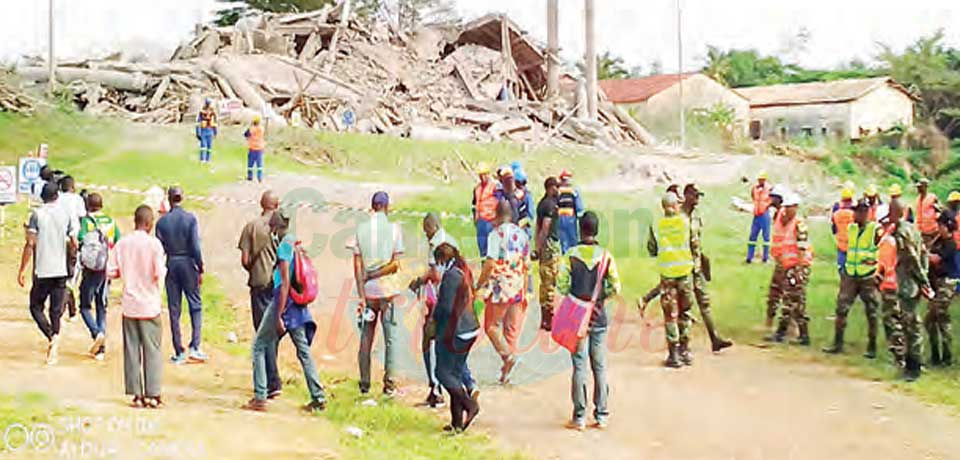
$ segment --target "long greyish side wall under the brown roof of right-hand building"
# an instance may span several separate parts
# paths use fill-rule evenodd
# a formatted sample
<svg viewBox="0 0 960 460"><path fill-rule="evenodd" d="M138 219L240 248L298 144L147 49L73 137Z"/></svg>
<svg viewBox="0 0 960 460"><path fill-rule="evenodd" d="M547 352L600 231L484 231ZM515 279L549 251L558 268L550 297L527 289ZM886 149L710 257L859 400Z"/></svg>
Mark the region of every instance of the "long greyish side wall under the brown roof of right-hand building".
<svg viewBox="0 0 960 460"><path fill-rule="evenodd" d="M761 137L798 137L804 134L845 137L850 134L851 104L807 104L755 107L752 120L759 121Z"/></svg>

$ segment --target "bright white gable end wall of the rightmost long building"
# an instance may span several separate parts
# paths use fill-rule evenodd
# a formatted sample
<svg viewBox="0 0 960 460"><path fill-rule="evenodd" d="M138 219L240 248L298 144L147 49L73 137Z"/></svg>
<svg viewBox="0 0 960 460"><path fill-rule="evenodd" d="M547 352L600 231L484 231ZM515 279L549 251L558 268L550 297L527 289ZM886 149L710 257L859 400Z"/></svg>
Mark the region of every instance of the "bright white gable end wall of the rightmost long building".
<svg viewBox="0 0 960 460"><path fill-rule="evenodd" d="M913 126L913 99L902 91L882 86L854 101L850 106L851 138L860 137L860 130L886 131L898 123Z"/></svg>

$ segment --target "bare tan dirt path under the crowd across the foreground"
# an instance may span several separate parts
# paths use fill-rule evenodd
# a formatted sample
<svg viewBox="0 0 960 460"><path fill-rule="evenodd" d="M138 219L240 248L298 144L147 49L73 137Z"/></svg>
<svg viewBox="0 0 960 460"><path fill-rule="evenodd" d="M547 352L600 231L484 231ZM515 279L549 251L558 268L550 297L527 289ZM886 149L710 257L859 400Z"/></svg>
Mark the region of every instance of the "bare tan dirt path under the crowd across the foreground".
<svg viewBox="0 0 960 460"><path fill-rule="evenodd" d="M369 191L376 188L335 188L319 179L292 176L272 186L286 193L317 184L324 184L315 188L331 197L328 199L357 206L362 206ZM249 199L259 192L258 187L238 184L218 194ZM236 304L240 322L237 332L244 345L249 344L252 332L235 245L240 222L256 212L249 205L229 204L217 206L202 217L207 264L221 281L228 300ZM298 225L301 238L323 240L317 246L322 250L314 258L323 274L323 298L313 307L321 323L314 356L322 369L354 375L356 336L353 308L347 300L349 259L338 244L349 223L335 211L305 209L298 216ZM0 298L0 320L5 324L5 346L0 349L5 378L0 379L0 392L38 391L55 395L85 413L130 417L134 412L124 407L126 401L119 396L122 370L116 339L107 361L97 363L78 351L89 341L82 324L66 325L61 363L44 368L40 365L41 340L23 306L25 293L12 294ZM404 311L406 330L416 330L418 311ZM659 366L662 353L645 345L659 343L659 332L651 335L639 323L627 323L611 337L611 427L603 432L564 430L562 425L571 410L569 355L555 349L544 351L543 337L536 335L533 326L536 317L536 307L531 306L521 340L530 344L530 351L517 371L517 385L499 388L492 384L497 358L488 343L481 343L471 355L471 367L484 385L478 428L490 432L505 447L534 458L873 460L951 459L960 455L960 437L956 436L960 421L941 408L891 393L882 384L837 375L829 367L784 363L745 346L714 357L703 353L705 344L698 342L696 350L701 353L695 367L667 371ZM111 336L119 337L116 310L110 319ZM628 337L632 339L624 346ZM164 339L169 349L168 335ZM416 342L415 334L404 336L401 360L402 371L409 378L405 399L411 403L424 396ZM202 444L199 452L206 455L196 458L310 459L334 455L331 451L336 450L339 436L335 427L322 419L304 423L296 413L295 405L300 401L295 397L285 396L278 409L268 415L237 410L250 394L248 360L210 351L210 364L165 369L169 405L150 413L158 432L146 437L102 433L91 439L113 440L121 449L135 449L145 439L167 445L178 441ZM284 376L299 379L289 344L282 345L282 354ZM288 430L284 426L297 428ZM143 458L184 457L157 453Z"/></svg>

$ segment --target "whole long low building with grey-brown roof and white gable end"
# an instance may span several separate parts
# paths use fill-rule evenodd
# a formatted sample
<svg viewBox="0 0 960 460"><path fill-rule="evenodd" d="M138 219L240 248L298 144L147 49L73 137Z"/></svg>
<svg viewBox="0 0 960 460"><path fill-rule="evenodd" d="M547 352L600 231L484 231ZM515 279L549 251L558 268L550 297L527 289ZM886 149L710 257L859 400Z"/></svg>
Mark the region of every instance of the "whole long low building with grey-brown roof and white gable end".
<svg viewBox="0 0 960 460"><path fill-rule="evenodd" d="M858 140L910 127L917 96L890 77L739 88L750 100L754 139L800 136Z"/></svg>

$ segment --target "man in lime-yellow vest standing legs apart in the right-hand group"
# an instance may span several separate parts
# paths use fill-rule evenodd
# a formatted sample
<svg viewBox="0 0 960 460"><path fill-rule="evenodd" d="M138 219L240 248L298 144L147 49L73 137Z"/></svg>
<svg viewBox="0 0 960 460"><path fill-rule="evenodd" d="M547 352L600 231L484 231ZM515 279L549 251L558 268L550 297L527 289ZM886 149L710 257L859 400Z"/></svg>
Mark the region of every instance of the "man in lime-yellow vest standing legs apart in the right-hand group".
<svg viewBox="0 0 960 460"><path fill-rule="evenodd" d="M864 357L877 357L877 310L880 306L879 282L877 279L877 245L883 229L870 220L870 203L861 200L854 207L854 221L847 226L847 260L840 271L840 292L837 294L837 313L834 320L833 345L824 348L825 353L843 352L843 336L847 328L847 315L857 297L863 301L867 313L867 352Z"/></svg>

